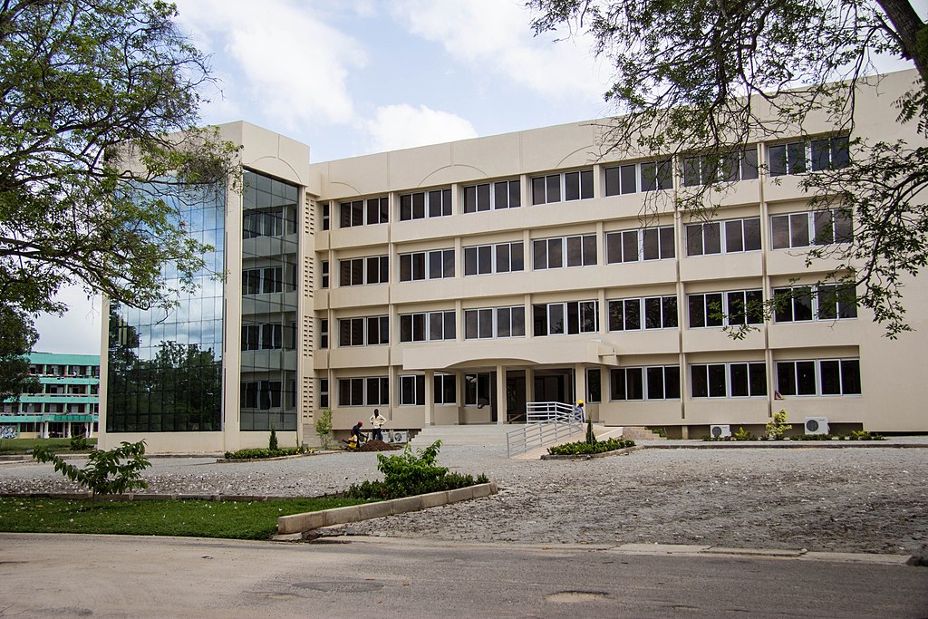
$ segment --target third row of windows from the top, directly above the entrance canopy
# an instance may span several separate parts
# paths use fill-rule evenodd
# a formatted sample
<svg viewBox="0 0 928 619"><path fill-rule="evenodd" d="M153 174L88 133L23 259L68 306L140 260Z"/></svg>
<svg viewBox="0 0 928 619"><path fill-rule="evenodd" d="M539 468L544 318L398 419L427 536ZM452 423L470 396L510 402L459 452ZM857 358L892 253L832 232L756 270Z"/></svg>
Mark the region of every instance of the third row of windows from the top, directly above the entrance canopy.
<svg viewBox="0 0 928 619"><path fill-rule="evenodd" d="M778 323L857 317L857 299L850 287L822 284L776 288L774 295L774 318ZM615 299L608 302L607 309L609 331L677 329L679 326L677 297L673 295ZM759 325L764 322L765 314L761 290L697 292L687 295L687 309L690 329ZM532 317L535 337L599 332L598 301L535 303ZM454 310L401 314L399 319L400 342L439 342L457 337ZM265 325L264 329L267 327ZM321 321L320 331L320 345L328 348L328 320ZM242 333L242 350L256 350L244 347L244 330ZM525 307L522 305L464 310L465 340L524 336ZM389 343L388 316L339 320L340 346Z"/></svg>

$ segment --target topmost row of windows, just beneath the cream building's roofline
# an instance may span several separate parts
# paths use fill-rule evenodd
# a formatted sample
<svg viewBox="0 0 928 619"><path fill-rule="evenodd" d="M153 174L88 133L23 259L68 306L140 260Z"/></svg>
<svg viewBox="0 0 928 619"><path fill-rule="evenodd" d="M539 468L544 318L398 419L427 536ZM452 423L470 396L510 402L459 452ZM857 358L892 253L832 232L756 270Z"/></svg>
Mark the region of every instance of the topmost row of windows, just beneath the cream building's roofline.
<svg viewBox="0 0 928 619"><path fill-rule="evenodd" d="M805 174L843 168L850 162L846 136L795 141L767 147L770 176ZM685 187L752 180L758 176L757 149L746 148L717 155L694 155L682 161ZM660 191L673 188L673 162L669 159L639 161L603 169L605 195ZM593 170L574 170L530 177L532 204L588 200L593 195ZM481 213L522 206L519 179L507 179L463 187L464 213ZM452 214L451 189L414 191L399 196L400 221ZM329 229L329 205L323 206L323 229ZM339 203L342 227L385 224L389 221L386 196ZM282 228L281 228L282 229ZM282 234L282 232L277 232Z"/></svg>

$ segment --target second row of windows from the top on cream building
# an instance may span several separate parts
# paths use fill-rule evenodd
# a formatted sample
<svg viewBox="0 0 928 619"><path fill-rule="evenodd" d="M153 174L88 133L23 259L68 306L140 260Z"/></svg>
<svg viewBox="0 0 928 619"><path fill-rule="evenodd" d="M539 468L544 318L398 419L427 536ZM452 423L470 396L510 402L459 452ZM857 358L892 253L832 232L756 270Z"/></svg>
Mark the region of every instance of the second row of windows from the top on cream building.
<svg viewBox="0 0 928 619"><path fill-rule="evenodd" d="M853 240L849 215L840 211L791 213L770 217L773 249L844 243ZM606 233L606 264L667 260L676 257L673 226L655 226ZM760 251L760 218L730 219L686 226L689 256ZM464 275L492 275L524 270L522 241L463 248ZM400 281L455 277L455 251L442 249L401 253ZM595 234L535 239L532 268L536 271L599 264ZM339 261L340 285L362 286L389 281L388 256ZM322 263L322 285L328 288L329 263Z"/></svg>

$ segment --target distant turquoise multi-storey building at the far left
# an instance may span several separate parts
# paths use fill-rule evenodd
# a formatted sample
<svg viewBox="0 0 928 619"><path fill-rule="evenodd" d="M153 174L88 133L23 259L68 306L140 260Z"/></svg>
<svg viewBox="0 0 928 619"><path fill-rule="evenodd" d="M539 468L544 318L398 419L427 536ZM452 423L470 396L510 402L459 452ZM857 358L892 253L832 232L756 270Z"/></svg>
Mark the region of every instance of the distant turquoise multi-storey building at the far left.
<svg viewBox="0 0 928 619"><path fill-rule="evenodd" d="M93 436L99 414L99 355L32 353L39 391L0 403L0 438Z"/></svg>

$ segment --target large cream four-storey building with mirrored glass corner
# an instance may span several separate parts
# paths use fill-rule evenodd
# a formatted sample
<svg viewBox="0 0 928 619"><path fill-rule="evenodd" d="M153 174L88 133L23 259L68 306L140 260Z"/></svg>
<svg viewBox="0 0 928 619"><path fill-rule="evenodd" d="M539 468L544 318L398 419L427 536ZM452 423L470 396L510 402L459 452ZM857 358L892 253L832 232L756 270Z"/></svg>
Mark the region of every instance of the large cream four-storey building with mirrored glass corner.
<svg viewBox="0 0 928 619"><path fill-rule="evenodd" d="M861 88L855 134L918 139L885 111L913 79ZM677 436L756 431L781 408L838 432L928 431L923 281L906 288L916 330L890 341L854 290L814 285L837 262L806 267L810 247L853 242L853 218L811 212L799 185L846 161L831 126L750 144L724 179L698 158L601 156L598 123L314 164L287 137L222 129L245 189L186 216L226 280L204 276L174 315L110 309L104 444L221 451L271 428L312 443L327 407L336 430L378 407L415 431L578 398ZM676 210L714 181L711 220ZM775 316L750 309L778 291L796 294ZM738 325L753 329L733 339Z"/></svg>

